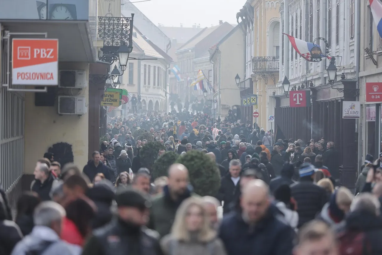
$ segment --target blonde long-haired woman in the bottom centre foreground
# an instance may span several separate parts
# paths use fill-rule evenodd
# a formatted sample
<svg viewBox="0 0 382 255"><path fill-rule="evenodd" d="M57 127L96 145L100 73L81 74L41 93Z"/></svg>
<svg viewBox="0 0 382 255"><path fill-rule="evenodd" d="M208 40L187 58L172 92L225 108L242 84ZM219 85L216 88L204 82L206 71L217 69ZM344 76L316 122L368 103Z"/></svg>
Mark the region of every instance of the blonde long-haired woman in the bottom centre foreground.
<svg viewBox="0 0 382 255"><path fill-rule="evenodd" d="M183 201L175 215L171 233L160 242L165 255L226 255L222 241L211 228L201 198Z"/></svg>

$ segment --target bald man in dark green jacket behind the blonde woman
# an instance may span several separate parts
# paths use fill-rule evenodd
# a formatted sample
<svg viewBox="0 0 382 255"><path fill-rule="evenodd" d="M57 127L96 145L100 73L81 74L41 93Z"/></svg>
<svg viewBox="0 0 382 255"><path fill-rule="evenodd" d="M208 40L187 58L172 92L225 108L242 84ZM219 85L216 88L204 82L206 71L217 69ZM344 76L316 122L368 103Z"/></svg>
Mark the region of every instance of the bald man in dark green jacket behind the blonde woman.
<svg viewBox="0 0 382 255"><path fill-rule="evenodd" d="M149 228L163 237L170 233L176 210L192 194L188 188L188 169L182 164L172 164L168 168L168 184L159 197L152 200Z"/></svg>

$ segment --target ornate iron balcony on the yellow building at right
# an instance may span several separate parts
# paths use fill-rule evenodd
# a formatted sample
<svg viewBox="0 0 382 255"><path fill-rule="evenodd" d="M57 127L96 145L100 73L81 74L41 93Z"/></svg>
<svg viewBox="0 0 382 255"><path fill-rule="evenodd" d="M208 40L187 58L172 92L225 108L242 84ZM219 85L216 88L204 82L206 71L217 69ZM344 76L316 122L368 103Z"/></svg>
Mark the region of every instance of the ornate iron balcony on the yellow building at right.
<svg viewBox="0 0 382 255"><path fill-rule="evenodd" d="M267 76L270 76L273 83L276 84L276 77L274 73L277 73L280 68L279 56L267 56L267 57L252 57L252 71L253 75L259 75L265 84L268 83Z"/></svg>

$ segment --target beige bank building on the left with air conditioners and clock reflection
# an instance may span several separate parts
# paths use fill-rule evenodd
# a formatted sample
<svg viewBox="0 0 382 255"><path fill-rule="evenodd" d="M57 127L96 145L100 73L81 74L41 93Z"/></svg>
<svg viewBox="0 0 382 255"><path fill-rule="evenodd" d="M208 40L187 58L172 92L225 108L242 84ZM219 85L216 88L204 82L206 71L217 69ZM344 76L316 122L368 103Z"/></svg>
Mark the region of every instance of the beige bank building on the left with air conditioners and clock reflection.
<svg viewBox="0 0 382 255"><path fill-rule="evenodd" d="M22 184L29 189L35 162L47 151L54 149L57 157L65 157L79 167L87 163L87 107L84 114L60 115L57 97L82 96L87 106L89 82L85 78L82 89L43 86L40 91L34 86L12 85L12 78L6 75L12 52L8 45L12 45L12 39L23 37L18 33L28 33L28 38L58 39L58 70L81 70L89 75L89 63L96 59L91 41L95 30L89 29L89 20L97 16L97 1L68 2L71 10L76 10L69 14L25 0L0 1L0 5L0 183L14 206Z"/></svg>

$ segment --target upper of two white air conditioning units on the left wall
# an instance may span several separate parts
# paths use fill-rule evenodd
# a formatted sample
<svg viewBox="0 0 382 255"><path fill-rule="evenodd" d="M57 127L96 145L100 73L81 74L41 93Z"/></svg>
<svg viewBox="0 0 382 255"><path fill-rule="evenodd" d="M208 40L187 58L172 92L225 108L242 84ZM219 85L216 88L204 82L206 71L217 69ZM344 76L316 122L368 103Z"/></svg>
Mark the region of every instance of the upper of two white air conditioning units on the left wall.
<svg viewBox="0 0 382 255"><path fill-rule="evenodd" d="M86 85L85 70L59 70L58 88L81 89Z"/></svg>

